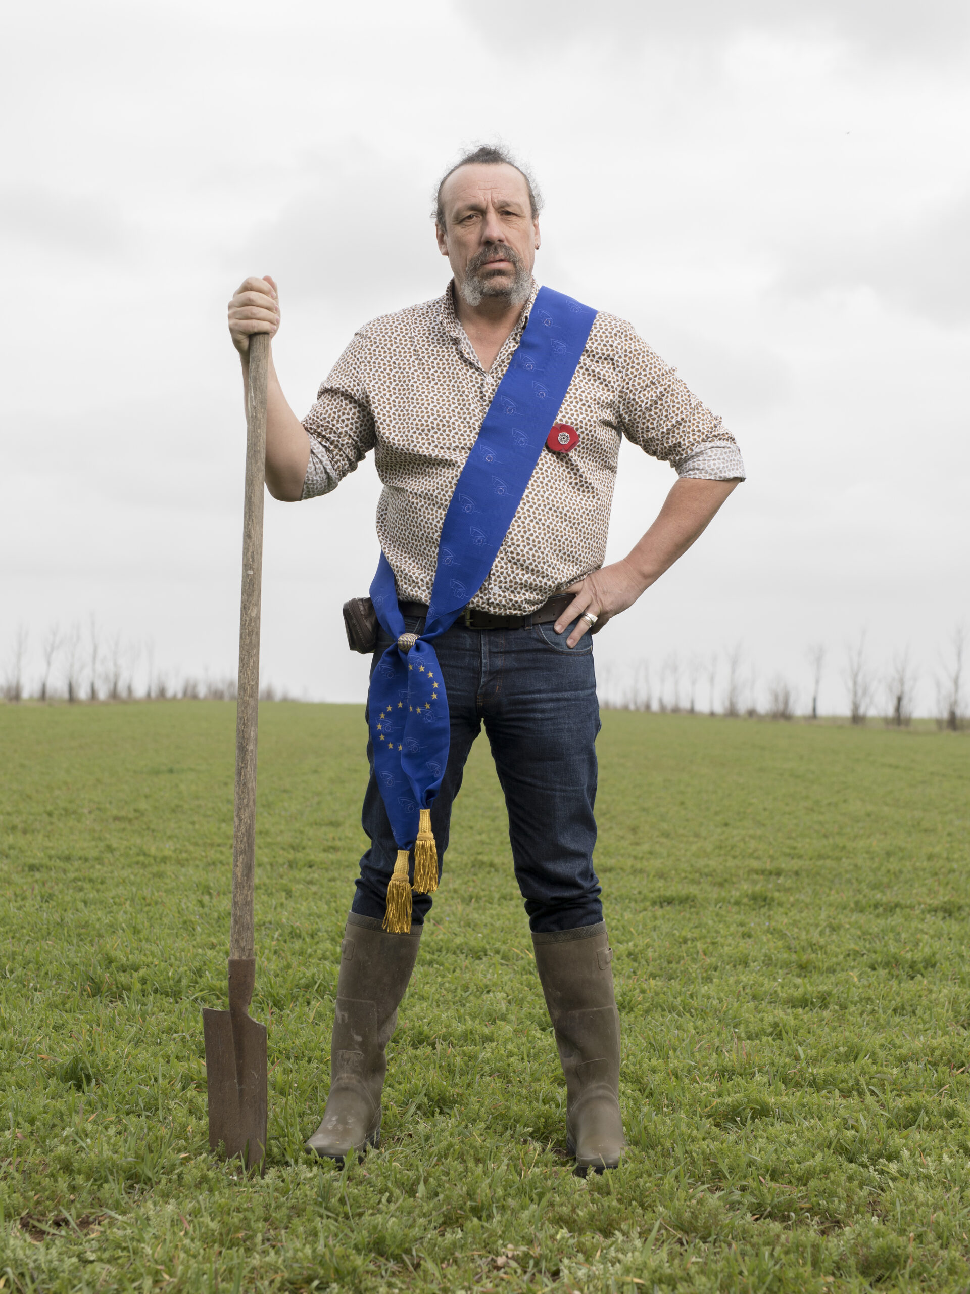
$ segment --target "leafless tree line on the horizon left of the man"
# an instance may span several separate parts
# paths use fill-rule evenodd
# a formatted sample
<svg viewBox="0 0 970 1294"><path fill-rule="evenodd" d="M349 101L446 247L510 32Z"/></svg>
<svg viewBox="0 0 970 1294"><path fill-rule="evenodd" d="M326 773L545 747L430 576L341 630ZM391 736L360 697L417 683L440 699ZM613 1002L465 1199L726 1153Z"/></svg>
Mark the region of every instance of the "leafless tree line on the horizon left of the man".
<svg viewBox="0 0 970 1294"><path fill-rule="evenodd" d="M151 642L127 642L106 634L91 616L87 625L48 626L35 653L32 673L30 633L21 624L13 634L4 665L0 695L6 701L131 701L131 700L235 700L235 679L177 677L155 668ZM261 700L288 700L272 683L260 688Z"/></svg>

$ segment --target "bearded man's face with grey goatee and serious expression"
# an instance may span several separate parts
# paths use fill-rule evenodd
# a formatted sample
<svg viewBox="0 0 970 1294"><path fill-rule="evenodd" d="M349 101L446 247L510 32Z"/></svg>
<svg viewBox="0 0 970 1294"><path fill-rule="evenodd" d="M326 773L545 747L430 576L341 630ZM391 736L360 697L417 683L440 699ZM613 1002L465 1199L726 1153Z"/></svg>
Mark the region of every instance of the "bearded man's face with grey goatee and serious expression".
<svg viewBox="0 0 970 1294"><path fill-rule="evenodd" d="M469 305L526 299L539 246L529 186L512 166L463 166L441 192L445 228L435 226L441 255Z"/></svg>

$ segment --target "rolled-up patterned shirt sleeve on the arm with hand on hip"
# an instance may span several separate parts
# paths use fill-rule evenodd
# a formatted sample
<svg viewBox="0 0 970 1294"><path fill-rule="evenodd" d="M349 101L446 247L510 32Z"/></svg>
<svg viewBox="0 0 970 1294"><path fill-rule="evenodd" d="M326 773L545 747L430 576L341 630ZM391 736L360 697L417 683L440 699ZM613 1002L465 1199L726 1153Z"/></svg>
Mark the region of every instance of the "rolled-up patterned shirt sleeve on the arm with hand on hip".
<svg viewBox="0 0 970 1294"><path fill-rule="evenodd" d="M653 458L669 462L678 476L698 480L744 480L745 465L737 441L626 325L620 355L621 431Z"/></svg>

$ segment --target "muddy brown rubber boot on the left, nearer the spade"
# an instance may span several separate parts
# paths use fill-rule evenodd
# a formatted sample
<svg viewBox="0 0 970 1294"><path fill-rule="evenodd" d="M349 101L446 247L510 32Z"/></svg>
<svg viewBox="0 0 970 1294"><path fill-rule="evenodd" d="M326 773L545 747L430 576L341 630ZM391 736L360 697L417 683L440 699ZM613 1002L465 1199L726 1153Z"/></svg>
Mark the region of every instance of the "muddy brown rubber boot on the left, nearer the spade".
<svg viewBox="0 0 970 1294"><path fill-rule="evenodd" d="M321 1158L343 1163L380 1139L380 1092L384 1048L397 1025L397 1007L418 959L422 927L410 934L387 934L372 916L347 919L340 945L334 1040L330 1047L330 1095L323 1119L307 1143Z"/></svg>

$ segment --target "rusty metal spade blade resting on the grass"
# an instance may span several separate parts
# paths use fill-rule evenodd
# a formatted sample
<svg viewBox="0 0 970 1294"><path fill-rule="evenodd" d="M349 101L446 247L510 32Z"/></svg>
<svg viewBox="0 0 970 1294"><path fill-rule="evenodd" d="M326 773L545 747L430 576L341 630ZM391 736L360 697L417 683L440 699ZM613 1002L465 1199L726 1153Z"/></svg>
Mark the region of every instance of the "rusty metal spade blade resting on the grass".
<svg viewBox="0 0 970 1294"><path fill-rule="evenodd" d="M250 1016L256 959L229 963L229 1011L202 1012L208 1079L208 1144L263 1168L266 1153L266 1026Z"/></svg>

